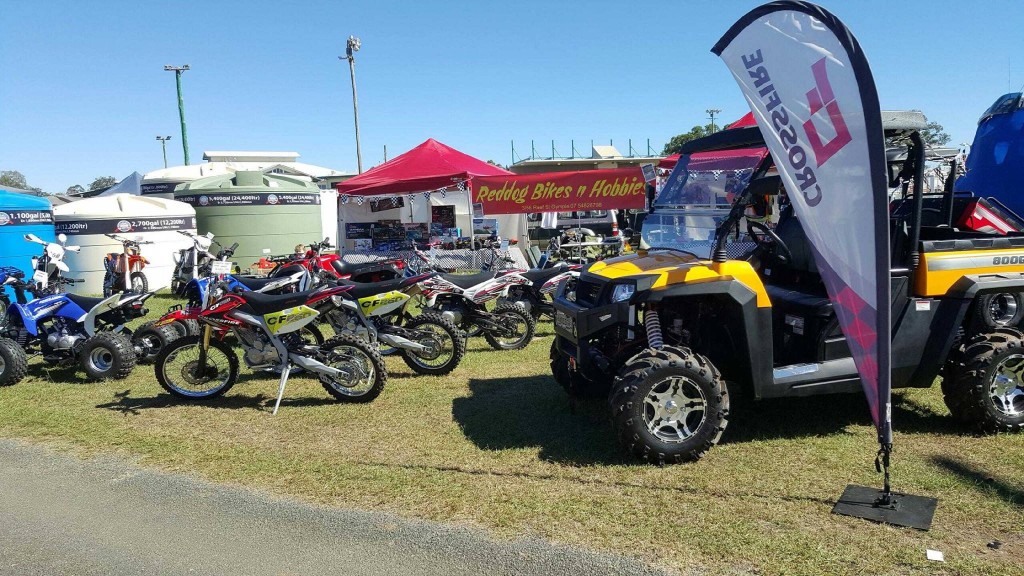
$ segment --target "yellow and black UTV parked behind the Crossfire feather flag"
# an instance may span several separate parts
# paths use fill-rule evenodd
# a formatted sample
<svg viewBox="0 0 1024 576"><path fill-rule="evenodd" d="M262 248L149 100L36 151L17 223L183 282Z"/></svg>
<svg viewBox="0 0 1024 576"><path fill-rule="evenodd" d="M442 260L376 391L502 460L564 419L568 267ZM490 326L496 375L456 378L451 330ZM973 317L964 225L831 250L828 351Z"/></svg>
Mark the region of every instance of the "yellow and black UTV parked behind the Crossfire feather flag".
<svg viewBox="0 0 1024 576"><path fill-rule="evenodd" d="M906 150L889 174L892 385L941 374L953 417L1019 431L1024 334L977 322L992 315L975 308L1024 292L1024 235L928 225L925 126L920 113L883 113L887 140ZM643 222L645 248L560 288L551 347L555 380L570 395L606 394L623 446L655 463L703 455L734 397L861 389L758 127L693 140L680 162L689 168Z"/></svg>

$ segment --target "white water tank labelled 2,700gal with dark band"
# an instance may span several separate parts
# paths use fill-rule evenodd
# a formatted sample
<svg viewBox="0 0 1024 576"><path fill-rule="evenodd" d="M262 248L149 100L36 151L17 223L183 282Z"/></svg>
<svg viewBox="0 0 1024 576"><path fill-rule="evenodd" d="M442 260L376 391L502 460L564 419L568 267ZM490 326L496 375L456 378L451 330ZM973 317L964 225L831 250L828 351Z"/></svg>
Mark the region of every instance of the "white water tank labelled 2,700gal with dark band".
<svg viewBox="0 0 1024 576"><path fill-rule="evenodd" d="M196 234L196 210L176 200L115 194L72 202L53 208L57 234L68 235L69 245L82 251L68 252L65 261L69 278L84 283L69 286L76 294L101 294L103 291L103 258L110 252L122 252L122 244L109 238L115 235L130 240L142 240L141 252L150 263L142 269L150 290L170 286L174 271L173 254L191 246L181 231Z"/></svg>

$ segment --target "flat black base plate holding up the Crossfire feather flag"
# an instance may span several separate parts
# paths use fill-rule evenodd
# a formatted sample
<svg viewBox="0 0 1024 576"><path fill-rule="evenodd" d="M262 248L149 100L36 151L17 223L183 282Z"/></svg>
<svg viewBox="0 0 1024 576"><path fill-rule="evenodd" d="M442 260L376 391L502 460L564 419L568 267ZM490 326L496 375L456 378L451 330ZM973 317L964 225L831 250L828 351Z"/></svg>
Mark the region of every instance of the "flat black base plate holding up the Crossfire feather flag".
<svg viewBox="0 0 1024 576"><path fill-rule="evenodd" d="M833 513L862 518L871 522L930 530L939 501L927 496L892 492L888 500L878 488L851 484L833 507Z"/></svg>

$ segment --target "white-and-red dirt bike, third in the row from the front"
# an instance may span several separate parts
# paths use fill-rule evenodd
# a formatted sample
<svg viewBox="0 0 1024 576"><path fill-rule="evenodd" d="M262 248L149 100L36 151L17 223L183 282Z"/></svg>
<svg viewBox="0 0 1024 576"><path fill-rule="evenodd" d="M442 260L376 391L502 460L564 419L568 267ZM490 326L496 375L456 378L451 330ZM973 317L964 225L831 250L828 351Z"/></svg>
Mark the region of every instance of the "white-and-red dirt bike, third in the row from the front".
<svg viewBox="0 0 1024 576"><path fill-rule="evenodd" d="M494 311L486 303L506 293L509 287L529 281L523 271L508 271L495 276L480 274L439 274L420 283L417 297L424 311L439 313L464 332L477 330L496 349L519 349L534 338L537 322L522 306L499 305Z"/></svg>

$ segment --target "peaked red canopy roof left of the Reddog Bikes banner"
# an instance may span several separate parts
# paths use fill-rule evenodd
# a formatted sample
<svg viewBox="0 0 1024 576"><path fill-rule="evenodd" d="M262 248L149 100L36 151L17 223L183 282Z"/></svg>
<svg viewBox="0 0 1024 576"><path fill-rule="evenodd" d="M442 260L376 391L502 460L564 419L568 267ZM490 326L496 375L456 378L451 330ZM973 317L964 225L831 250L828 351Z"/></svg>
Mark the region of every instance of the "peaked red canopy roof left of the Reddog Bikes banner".
<svg viewBox="0 0 1024 576"><path fill-rule="evenodd" d="M512 172L477 160L433 138L338 184L350 196L400 195L454 187L473 176Z"/></svg>

